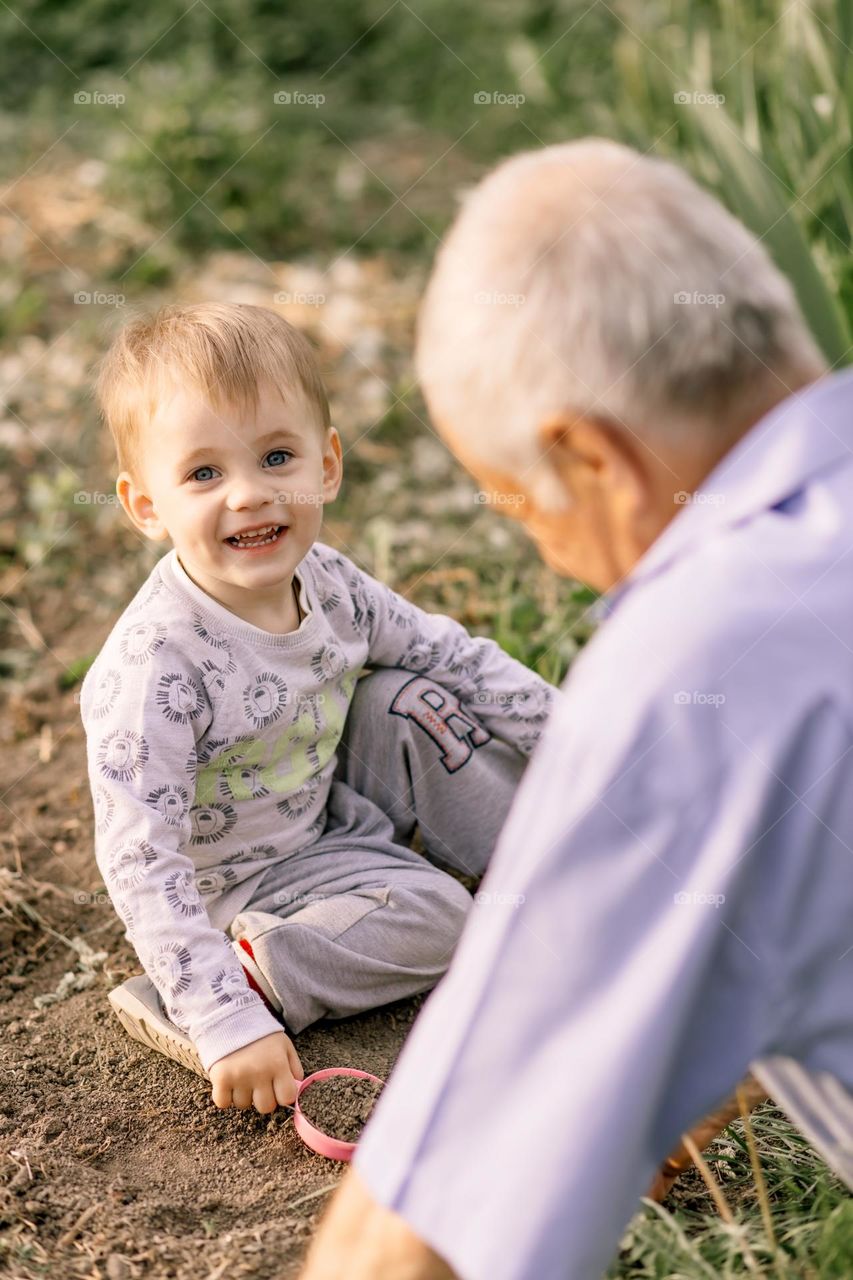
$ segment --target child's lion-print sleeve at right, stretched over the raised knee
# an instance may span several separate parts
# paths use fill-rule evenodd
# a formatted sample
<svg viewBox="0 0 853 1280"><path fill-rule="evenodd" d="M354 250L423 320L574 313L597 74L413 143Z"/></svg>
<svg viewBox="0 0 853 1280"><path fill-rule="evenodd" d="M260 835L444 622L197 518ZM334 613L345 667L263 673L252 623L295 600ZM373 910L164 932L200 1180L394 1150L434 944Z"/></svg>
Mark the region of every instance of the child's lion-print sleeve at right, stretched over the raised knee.
<svg viewBox="0 0 853 1280"><path fill-rule="evenodd" d="M368 662L428 676L465 703L496 737L530 755L560 690L494 640L471 636L455 618L428 613L345 557L355 621L368 641Z"/></svg>

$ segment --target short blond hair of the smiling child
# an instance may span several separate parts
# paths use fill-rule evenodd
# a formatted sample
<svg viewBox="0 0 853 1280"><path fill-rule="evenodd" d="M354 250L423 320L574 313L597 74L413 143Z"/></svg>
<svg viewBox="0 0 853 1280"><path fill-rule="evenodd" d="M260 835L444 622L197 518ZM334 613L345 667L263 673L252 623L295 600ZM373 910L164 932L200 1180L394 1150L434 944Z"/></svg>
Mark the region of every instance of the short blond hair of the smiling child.
<svg viewBox="0 0 853 1280"><path fill-rule="evenodd" d="M138 477L141 428L170 385L187 384L215 407L256 410L263 380L284 399L297 387L329 426L314 349L275 311L237 302L173 303L132 320L104 357L96 384L119 471Z"/></svg>

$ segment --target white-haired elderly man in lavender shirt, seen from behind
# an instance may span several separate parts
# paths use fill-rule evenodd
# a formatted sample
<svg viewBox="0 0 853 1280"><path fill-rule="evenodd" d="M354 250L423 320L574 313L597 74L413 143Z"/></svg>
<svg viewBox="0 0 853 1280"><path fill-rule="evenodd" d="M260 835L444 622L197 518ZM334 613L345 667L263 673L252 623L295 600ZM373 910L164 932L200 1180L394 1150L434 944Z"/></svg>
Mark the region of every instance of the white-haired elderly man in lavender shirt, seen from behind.
<svg viewBox="0 0 853 1280"><path fill-rule="evenodd" d="M853 376L754 238L587 140L466 201L430 412L603 595L305 1280L593 1280L753 1074L853 1184Z"/></svg>

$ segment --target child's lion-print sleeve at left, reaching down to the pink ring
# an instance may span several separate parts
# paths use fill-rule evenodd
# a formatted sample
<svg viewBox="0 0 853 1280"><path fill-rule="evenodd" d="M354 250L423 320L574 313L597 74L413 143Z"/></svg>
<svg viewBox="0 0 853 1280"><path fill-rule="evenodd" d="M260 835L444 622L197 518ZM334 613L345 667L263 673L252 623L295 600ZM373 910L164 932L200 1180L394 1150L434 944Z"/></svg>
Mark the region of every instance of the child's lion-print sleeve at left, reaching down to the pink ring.
<svg viewBox="0 0 853 1280"><path fill-rule="evenodd" d="M196 744L211 718L202 681L165 623L129 621L87 673L81 717L99 870L168 1016L207 1070L282 1027L196 888Z"/></svg>

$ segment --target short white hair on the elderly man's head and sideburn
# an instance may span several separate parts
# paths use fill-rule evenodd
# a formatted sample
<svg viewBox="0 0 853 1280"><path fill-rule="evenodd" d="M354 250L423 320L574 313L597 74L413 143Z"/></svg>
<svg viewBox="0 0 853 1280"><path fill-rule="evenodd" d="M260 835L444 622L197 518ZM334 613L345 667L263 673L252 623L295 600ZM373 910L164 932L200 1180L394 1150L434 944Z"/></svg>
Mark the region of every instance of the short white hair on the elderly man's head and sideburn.
<svg viewBox="0 0 853 1280"><path fill-rule="evenodd" d="M551 509L566 499L535 443L548 415L602 417L651 448L725 439L768 390L826 369L752 233L676 165L603 138L514 156L467 196L416 365L435 420L493 467L526 468Z"/></svg>

